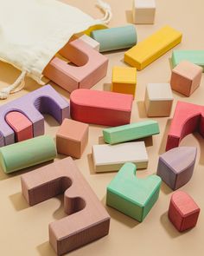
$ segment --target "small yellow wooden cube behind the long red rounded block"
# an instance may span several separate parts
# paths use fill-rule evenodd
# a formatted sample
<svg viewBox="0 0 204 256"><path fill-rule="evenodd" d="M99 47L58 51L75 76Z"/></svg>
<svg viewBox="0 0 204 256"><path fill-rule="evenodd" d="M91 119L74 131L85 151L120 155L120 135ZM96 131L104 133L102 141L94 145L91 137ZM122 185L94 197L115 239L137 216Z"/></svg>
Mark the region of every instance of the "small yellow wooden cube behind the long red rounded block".
<svg viewBox="0 0 204 256"><path fill-rule="evenodd" d="M112 69L112 92L135 96L137 69L114 67Z"/></svg>

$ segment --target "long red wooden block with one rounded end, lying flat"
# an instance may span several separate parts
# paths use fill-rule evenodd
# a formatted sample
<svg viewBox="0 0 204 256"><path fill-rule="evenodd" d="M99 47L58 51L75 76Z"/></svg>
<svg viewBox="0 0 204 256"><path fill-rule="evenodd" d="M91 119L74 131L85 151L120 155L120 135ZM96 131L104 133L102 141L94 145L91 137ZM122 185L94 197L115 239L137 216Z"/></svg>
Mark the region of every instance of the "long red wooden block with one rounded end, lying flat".
<svg viewBox="0 0 204 256"><path fill-rule="evenodd" d="M130 123L133 96L77 89L70 95L73 120L106 126Z"/></svg>

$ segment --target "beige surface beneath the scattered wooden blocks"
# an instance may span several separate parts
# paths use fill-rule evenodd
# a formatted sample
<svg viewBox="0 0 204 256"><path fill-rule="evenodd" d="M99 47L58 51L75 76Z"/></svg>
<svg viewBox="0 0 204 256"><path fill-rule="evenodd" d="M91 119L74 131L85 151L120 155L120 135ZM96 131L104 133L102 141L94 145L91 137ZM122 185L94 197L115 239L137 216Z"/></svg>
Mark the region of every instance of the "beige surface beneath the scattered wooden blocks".
<svg viewBox="0 0 204 256"><path fill-rule="evenodd" d="M100 10L94 6L95 0L67 0L65 2L79 7L94 17L102 16ZM113 12L110 26L131 23L131 0L109 0L107 2L111 3ZM182 44L177 46L177 49L203 49L203 0L157 0L156 3L156 23L154 25L137 25L139 40L143 40L161 26L169 24L183 33ZM108 74L93 89L103 89L104 86L107 89L111 82L112 66L115 64L124 65L123 51L109 53L106 56L110 60ZM146 84L148 82L169 82L170 56L171 52L137 73L137 96L133 105L131 121L146 119L143 108ZM1 87L13 82L18 74L16 69L0 62ZM8 102L37 88L39 85L27 79L26 88L20 94L10 96ZM55 85L54 89L68 98L69 95L64 90ZM198 104L203 104L203 95L203 79L201 87L190 98L174 93L175 102L182 100ZM0 104L3 103L5 102L0 102ZM154 136L152 140L146 140L150 163L147 170L138 171L139 177L156 173L158 155L163 153L165 147L170 118L158 118L156 120L159 121L161 134ZM46 116L46 133L54 137L57 128L57 122L50 116ZM101 142L99 139L101 135L101 127L90 126L88 147L83 157L76 163L99 199L105 204L105 187L115 173L94 174L91 147L93 144ZM182 145L194 145L199 149L194 176L186 186L182 187L182 190L191 194L201 207L200 220L193 230L187 233L178 233L174 226L169 223L167 210L172 191L163 184L156 206L153 207L143 223L139 224L136 220L108 207L107 210L112 217L110 234L70 253L70 255L203 255L204 140L198 134L189 135L182 141ZM22 173L5 175L0 171L0 255L53 256L55 253L48 243L48 223L64 216L62 196L42 202L35 207L28 207L21 194L20 174Z"/></svg>

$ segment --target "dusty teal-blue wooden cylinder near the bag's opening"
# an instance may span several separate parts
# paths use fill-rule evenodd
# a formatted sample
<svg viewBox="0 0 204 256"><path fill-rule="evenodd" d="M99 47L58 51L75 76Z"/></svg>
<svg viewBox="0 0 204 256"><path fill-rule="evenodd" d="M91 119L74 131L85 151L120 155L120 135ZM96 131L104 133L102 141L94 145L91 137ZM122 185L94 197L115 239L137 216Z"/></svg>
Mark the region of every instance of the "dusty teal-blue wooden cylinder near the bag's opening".
<svg viewBox="0 0 204 256"><path fill-rule="evenodd" d="M137 43L137 32L134 25L93 30L90 36L100 43L100 52L131 48Z"/></svg>

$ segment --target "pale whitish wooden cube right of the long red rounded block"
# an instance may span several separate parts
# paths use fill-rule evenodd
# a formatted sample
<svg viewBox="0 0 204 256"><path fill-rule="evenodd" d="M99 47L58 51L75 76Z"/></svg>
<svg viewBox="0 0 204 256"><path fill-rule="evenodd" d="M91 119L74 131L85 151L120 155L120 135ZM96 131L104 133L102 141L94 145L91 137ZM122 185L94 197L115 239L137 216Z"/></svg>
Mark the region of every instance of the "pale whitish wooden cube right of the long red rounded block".
<svg viewBox="0 0 204 256"><path fill-rule="evenodd" d="M149 83L145 93L148 116L169 116L174 98L169 83Z"/></svg>

